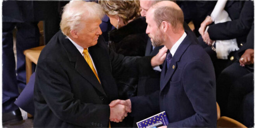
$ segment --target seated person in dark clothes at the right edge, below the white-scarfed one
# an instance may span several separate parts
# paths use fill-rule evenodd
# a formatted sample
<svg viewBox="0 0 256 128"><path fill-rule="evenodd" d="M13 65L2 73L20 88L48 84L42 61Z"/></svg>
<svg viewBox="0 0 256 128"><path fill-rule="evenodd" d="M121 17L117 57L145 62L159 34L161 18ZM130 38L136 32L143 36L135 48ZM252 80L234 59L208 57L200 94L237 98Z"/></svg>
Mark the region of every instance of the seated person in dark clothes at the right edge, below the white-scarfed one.
<svg viewBox="0 0 256 128"><path fill-rule="evenodd" d="M228 116L242 123L242 100L247 93L253 91L254 83L254 24L236 58L218 77L216 97L221 116Z"/></svg>

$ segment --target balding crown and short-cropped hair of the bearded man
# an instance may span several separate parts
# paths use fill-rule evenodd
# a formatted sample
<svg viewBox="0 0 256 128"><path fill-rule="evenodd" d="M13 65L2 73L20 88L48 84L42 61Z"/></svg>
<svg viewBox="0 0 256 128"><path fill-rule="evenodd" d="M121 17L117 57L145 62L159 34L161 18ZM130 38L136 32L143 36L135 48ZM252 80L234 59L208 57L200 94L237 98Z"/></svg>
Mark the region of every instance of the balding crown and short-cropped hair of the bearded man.
<svg viewBox="0 0 256 128"><path fill-rule="evenodd" d="M150 7L147 13L147 16L148 15L153 15L154 21L156 21L158 26L160 26L163 21L166 21L171 24L173 31L179 31L183 29L183 12L175 2L158 2Z"/></svg>

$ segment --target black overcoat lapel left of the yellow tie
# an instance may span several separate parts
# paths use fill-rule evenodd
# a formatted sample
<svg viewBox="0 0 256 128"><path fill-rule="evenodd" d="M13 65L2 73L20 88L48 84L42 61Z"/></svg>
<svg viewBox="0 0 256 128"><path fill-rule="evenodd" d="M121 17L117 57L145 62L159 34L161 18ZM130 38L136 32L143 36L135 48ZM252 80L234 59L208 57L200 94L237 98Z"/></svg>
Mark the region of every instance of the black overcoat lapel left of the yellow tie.
<svg viewBox="0 0 256 128"><path fill-rule="evenodd" d="M104 94L104 89L102 88L102 85L99 83L98 79L96 78L95 74L93 73L90 66L87 64L83 56L80 54L80 52L76 49L76 47L70 42L68 38L65 38L66 36L63 35L62 38L62 46L67 52L68 58L70 62L74 63L74 69L87 81L89 81L99 92ZM96 66L95 66L96 67ZM97 67L96 67L97 70ZM99 77L100 78L100 77Z"/></svg>

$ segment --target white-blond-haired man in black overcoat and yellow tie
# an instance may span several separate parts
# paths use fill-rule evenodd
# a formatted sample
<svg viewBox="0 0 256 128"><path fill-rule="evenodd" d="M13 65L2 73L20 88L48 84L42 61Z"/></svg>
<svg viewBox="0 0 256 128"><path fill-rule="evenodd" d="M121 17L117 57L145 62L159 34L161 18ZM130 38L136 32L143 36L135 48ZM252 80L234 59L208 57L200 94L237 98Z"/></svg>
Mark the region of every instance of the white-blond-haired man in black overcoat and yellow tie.
<svg viewBox="0 0 256 128"><path fill-rule="evenodd" d="M109 50L100 36L103 16L94 2L65 5L61 31L38 59L34 127L109 127L109 121L122 121L131 109L108 105L118 99L113 75L137 71L139 62L151 62L150 66L163 63L164 50L152 59L124 57Z"/></svg>

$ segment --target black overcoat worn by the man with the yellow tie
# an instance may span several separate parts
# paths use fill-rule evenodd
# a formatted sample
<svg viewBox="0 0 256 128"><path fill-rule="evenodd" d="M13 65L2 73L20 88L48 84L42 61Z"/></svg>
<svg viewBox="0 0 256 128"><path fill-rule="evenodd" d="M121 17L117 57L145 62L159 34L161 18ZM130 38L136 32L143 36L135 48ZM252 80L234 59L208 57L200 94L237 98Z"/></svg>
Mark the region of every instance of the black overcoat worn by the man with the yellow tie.
<svg viewBox="0 0 256 128"><path fill-rule="evenodd" d="M150 65L151 57L138 59L112 52L102 36L88 51L101 84L61 31L42 50L36 67L34 127L108 127L108 104L118 99L114 76L136 72L137 68L130 67L136 67L139 60Z"/></svg>

